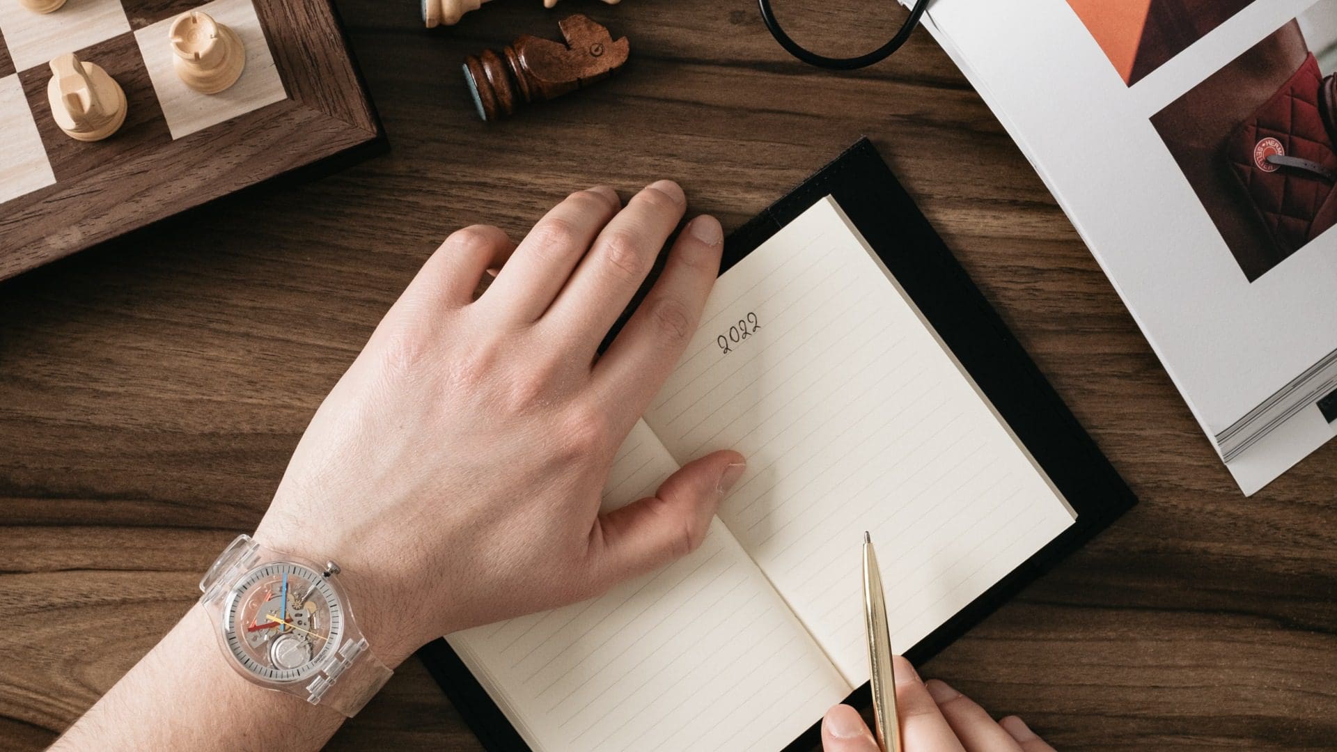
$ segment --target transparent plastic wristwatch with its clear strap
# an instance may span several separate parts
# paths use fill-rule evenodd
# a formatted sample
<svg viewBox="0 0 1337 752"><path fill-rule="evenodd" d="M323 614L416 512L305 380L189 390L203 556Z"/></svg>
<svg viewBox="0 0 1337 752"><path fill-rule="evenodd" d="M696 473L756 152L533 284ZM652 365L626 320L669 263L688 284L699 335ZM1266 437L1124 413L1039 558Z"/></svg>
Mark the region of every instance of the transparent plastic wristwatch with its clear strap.
<svg viewBox="0 0 1337 752"><path fill-rule="evenodd" d="M199 602L237 673L353 716L393 672L368 648L338 573L238 535L199 581Z"/></svg>

